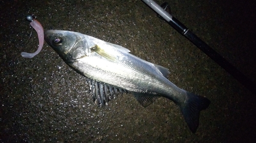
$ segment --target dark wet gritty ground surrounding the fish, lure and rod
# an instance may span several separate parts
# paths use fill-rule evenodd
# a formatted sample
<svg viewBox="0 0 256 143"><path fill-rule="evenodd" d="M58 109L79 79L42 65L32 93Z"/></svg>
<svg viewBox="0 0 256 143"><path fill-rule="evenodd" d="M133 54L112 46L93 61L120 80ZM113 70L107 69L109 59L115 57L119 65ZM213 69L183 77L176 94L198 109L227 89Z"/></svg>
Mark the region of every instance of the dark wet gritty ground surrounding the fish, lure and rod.
<svg viewBox="0 0 256 143"><path fill-rule="evenodd" d="M165 1L155 1L159 5ZM172 15L256 82L252 1L166 1ZM142 1L1 1L1 142L254 142L255 95L178 34ZM81 75L35 31L67 30L121 45L170 70L178 87L207 97L195 134L178 107L160 98L142 107L131 94L98 108ZM255 87L256 88L256 87Z"/></svg>

